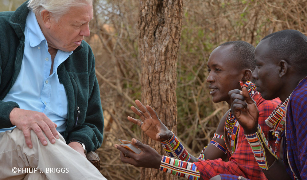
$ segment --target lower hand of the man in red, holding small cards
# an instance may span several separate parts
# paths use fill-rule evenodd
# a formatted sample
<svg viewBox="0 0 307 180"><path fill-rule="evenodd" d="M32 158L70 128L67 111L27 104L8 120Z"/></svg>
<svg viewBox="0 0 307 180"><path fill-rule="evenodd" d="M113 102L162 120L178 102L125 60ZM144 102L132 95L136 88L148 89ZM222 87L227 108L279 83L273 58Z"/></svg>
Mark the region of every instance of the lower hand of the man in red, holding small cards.
<svg viewBox="0 0 307 180"><path fill-rule="evenodd" d="M120 158L122 162L131 164L136 167L146 167L154 169L160 168L162 156L159 155L156 150L134 138L131 140L131 142L134 146L142 150L140 154L131 152L125 147L122 147L118 144L114 145L115 148L121 151Z"/></svg>

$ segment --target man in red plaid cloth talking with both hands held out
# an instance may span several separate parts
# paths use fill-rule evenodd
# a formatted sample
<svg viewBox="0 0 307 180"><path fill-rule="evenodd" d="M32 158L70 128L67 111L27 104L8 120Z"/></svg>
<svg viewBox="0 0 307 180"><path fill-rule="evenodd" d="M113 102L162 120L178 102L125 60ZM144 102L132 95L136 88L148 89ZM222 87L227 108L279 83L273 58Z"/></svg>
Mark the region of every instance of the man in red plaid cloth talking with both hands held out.
<svg viewBox="0 0 307 180"><path fill-rule="evenodd" d="M210 72L207 82L210 83L209 88L212 89L210 94L213 102L226 101L230 105L231 101L228 92L244 86L244 83L246 87L249 86L248 82L252 79L252 70L255 68L254 49L254 46L247 42L231 41L218 46L212 51L207 64ZM243 82L239 84L239 81ZM267 132L270 127L266 126L264 120L280 101L266 101L261 98L254 85L251 84L248 88L260 110L262 120L259 123L263 125ZM221 119L220 125L207 148L199 158L195 158L180 144L177 137L161 123L156 112L150 106L145 107L138 100L136 100L136 104L141 111L133 106L131 109L141 117L141 120L132 117L128 117L128 120L140 125L150 138L161 141L170 158L161 156L151 147L132 139L132 142L142 149L142 152L134 154L121 146L115 145L117 149L122 151L122 162L130 163L134 166L160 169L188 179L200 178L208 180L222 173L242 175L254 180L265 179L265 175L258 167L249 144L243 135L243 129L239 127L239 123L229 111ZM273 141L271 145L274 146ZM230 156L229 158L227 158L227 154ZM228 161L224 162L222 159L226 158ZM176 163L173 163L174 161ZM178 164L178 166L173 164ZM185 172L182 171L182 168L185 169Z"/></svg>

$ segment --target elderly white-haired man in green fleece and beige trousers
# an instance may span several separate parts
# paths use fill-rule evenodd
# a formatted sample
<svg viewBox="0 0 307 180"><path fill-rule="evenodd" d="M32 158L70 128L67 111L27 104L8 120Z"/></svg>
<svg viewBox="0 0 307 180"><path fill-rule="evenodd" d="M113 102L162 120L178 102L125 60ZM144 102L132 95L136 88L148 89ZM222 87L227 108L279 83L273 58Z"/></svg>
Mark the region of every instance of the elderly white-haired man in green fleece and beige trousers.
<svg viewBox="0 0 307 180"><path fill-rule="evenodd" d="M0 179L105 179L92 0L29 0L0 13Z"/></svg>

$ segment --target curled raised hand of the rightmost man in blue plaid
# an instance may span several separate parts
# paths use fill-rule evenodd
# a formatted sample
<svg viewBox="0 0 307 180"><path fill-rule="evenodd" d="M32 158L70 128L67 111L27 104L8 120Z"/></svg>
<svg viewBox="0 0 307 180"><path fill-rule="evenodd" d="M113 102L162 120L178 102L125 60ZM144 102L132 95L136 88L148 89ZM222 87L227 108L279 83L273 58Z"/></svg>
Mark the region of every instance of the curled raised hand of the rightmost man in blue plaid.
<svg viewBox="0 0 307 180"><path fill-rule="evenodd" d="M259 112L256 102L243 87L242 91L234 89L229 91L231 97L231 113L244 129L244 134L257 132Z"/></svg>

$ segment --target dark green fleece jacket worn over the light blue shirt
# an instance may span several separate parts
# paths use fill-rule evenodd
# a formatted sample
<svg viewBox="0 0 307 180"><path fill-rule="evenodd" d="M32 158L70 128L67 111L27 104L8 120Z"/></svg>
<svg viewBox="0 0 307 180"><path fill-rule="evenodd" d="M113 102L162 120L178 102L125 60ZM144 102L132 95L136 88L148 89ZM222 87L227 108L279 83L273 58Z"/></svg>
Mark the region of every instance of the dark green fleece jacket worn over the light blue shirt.
<svg viewBox="0 0 307 180"><path fill-rule="evenodd" d="M29 9L23 3L16 11L0 12L0 128L13 127L9 115L16 102L2 101L20 72L25 48L25 22ZM29 72L31 73L31 72ZM57 69L68 98L68 120L62 133L67 143L78 140L87 151L103 141L103 112L91 47L82 44ZM60 101L60 100L59 100ZM77 107L80 108L76 121Z"/></svg>

